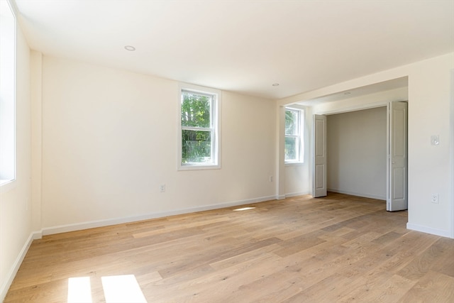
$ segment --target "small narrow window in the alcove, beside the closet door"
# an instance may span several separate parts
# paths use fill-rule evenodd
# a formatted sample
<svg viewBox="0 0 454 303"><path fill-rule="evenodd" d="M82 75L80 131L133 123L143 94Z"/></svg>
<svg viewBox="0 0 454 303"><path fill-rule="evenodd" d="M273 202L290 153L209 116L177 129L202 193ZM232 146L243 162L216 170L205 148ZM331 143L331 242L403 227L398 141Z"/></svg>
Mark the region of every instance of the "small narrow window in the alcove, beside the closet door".
<svg viewBox="0 0 454 303"><path fill-rule="evenodd" d="M302 162L302 115L299 109L285 110L285 162Z"/></svg>

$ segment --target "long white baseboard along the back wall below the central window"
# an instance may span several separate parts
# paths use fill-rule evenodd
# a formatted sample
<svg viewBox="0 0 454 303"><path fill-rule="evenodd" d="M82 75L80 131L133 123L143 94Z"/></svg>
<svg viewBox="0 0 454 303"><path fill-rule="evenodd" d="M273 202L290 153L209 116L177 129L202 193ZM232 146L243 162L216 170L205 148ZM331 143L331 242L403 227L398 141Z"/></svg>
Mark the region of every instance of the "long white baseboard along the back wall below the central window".
<svg viewBox="0 0 454 303"><path fill-rule="evenodd" d="M88 228L109 226L109 225L115 225L115 224L123 224L123 223L129 223L129 222L134 222L134 221L143 221L143 220L149 220L149 219L156 219L156 218L162 218L165 216L175 216L177 214L189 214L189 213L196 212L196 211L222 209L225 207L251 204L251 203L257 203L257 202L265 202L265 201L270 201L270 200L275 200L275 199L277 199L277 197L275 197L275 196L259 197L259 198L254 198L254 199L245 199L245 200L236 201L236 202L211 204L211 205L206 205L206 206L191 207L188 209L177 209L175 211L163 211L163 212L157 212L157 213L151 213L151 214L144 214L144 215L140 215L140 216L127 216L127 217L116 218L116 219L87 221L87 222L80 222L80 223L75 223L75 224L45 227L41 230L41 233L43 234L43 236L45 236L45 235L52 235L55 233L66 233L68 231L80 231L82 229L88 229Z"/></svg>

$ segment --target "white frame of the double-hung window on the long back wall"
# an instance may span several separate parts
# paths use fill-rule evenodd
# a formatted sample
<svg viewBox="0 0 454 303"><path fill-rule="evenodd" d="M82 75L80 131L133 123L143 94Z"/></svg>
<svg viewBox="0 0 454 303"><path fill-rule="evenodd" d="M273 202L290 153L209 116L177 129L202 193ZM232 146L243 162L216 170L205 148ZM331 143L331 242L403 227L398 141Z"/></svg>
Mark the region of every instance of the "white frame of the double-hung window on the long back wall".
<svg viewBox="0 0 454 303"><path fill-rule="evenodd" d="M184 129L197 130L198 128L182 126L182 94L193 92L194 94L209 95L213 97L211 104L210 131L211 131L211 162L182 163L182 131ZM213 170L221 168L221 91L208 87L199 87L192 84L179 84L178 99L178 170ZM199 128L201 129L201 128Z"/></svg>

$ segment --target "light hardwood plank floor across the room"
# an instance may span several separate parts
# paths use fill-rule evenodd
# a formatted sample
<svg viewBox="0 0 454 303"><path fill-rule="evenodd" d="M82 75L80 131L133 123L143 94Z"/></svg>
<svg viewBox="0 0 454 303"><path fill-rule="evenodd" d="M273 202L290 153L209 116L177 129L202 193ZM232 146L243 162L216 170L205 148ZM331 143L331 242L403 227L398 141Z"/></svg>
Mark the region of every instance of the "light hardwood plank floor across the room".
<svg viewBox="0 0 454 303"><path fill-rule="evenodd" d="M134 275L148 302L454 302L454 239L381 200L329 193L45 236L5 302L67 302L68 281ZM121 289L121 286L119 287Z"/></svg>

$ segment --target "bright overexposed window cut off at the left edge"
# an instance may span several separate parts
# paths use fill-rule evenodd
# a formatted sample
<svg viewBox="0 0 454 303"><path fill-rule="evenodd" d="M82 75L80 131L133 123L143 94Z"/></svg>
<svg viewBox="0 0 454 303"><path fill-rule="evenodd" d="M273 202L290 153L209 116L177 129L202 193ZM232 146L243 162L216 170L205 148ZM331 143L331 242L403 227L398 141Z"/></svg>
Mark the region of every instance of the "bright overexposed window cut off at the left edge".
<svg viewBox="0 0 454 303"><path fill-rule="evenodd" d="M16 178L16 18L0 1L0 185Z"/></svg>

